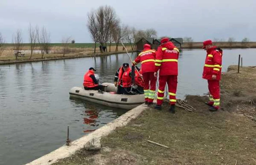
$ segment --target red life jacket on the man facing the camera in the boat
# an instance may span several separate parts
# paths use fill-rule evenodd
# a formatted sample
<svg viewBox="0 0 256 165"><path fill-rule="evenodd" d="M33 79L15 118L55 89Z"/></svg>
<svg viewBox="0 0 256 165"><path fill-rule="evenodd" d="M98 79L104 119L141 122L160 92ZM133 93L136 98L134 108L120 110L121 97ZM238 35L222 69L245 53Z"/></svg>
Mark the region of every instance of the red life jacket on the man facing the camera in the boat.
<svg viewBox="0 0 256 165"><path fill-rule="evenodd" d="M120 68L118 74L118 85L121 87L131 87L132 86L132 78L129 75L131 68L129 67L127 71L123 72L123 67Z"/></svg>

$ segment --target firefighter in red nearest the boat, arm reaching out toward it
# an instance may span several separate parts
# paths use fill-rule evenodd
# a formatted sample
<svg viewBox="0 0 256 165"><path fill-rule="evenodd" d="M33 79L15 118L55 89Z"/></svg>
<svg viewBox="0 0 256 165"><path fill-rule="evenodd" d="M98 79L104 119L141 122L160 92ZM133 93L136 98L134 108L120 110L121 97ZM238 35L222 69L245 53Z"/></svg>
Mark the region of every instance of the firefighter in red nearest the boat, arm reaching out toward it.
<svg viewBox="0 0 256 165"><path fill-rule="evenodd" d="M155 95L155 84L157 78L154 76L155 71L155 51L151 50L149 44L144 44L144 50L138 55L133 61L133 65L137 65L139 62L142 63L142 75L144 80L144 95L145 103L150 105L153 103ZM143 69L142 69L143 68ZM150 89L149 89L150 83Z"/></svg>

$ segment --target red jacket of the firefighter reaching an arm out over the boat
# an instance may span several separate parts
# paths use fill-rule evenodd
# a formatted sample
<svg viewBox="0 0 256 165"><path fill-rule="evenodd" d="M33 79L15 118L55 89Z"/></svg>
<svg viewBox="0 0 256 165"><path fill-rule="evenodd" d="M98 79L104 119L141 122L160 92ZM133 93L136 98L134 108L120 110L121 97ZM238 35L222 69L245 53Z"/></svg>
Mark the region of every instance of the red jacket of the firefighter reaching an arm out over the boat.
<svg viewBox="0 0 256 165"><path fill-rule="evenodd" d="M139 62L142 63L142 74L146 72L154 72L155 51L150 48L144 48L132 63L137 65Z"/></svg>

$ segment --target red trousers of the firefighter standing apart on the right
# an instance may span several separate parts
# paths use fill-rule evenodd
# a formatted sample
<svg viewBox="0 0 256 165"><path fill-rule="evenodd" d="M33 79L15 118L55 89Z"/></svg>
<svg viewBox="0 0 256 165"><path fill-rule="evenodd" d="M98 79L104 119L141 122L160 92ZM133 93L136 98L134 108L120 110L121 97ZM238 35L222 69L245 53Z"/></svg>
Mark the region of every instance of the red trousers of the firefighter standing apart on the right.
<svg viewBox="0 0 256 165"><path fill-rule="evenodd" d="M208 89L210 93L210 104L219 109L219 80L208 80Z"/></svg>

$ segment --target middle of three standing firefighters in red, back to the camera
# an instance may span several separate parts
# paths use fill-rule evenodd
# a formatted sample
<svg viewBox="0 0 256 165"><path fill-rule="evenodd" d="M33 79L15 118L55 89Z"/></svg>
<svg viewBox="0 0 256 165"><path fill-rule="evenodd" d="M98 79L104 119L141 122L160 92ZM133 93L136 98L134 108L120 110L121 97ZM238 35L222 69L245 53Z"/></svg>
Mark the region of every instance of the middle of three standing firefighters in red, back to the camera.
<svg viewBox="0 0 256 165"><path fill-rule="evenodd" d="M178 76L178 56L179 50L174 46L169 38L161 39L161 45L157 49L155 59L155 77L159 70L159 88L157 93L157 105L155 109L161 110L163 96L165 92L165 84L167 82L170 96L170 108L175 113L177 76Z"/></svg>

